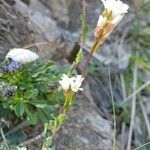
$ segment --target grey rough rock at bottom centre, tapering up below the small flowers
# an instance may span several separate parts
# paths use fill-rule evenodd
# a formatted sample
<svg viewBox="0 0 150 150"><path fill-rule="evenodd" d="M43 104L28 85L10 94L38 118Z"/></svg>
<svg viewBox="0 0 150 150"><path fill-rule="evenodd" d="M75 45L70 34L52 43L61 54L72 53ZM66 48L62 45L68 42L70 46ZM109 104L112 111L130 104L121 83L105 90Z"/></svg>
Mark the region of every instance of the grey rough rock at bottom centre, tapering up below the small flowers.
<svg viewBox="0 0 150 150"><path fill-rule="evenodd" d="M56 150L110 150L111 122L101 117L86 84L79 94L76 106L68 114L68 120L54 140Z"/></svg>

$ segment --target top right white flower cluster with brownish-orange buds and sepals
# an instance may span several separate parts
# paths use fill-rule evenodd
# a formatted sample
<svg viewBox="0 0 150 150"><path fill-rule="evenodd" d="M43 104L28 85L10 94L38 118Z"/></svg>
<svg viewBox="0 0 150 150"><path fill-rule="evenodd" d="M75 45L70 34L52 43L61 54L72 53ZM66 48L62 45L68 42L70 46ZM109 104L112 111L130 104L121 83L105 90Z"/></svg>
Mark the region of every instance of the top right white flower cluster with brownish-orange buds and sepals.
<svg viewBox="0 0 150 150"><path fill-rule="evenodd" d="M120 0L101 0L105 7L102 15L99 16L97 26L94 31L96 38L102 44L115 26L122 20L129 6Z"/></svg>

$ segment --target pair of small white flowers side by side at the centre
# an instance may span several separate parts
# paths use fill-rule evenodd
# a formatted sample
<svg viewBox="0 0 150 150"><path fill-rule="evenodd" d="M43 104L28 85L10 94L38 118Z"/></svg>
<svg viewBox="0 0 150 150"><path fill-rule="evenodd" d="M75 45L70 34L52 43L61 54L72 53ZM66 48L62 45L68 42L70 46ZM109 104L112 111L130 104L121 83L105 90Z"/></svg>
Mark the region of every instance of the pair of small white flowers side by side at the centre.
<svg viewBox="0 0 150 150"><path fill-rule="evenodd" d="M67 91L71 89L73 92L77 92L78 90L82 91L83 88L80 88L82 81L84 78L82 75L77 75L76 77L69 78L66 74L63 74L61 77L62 80L59 81L62 88Z"/></svg>

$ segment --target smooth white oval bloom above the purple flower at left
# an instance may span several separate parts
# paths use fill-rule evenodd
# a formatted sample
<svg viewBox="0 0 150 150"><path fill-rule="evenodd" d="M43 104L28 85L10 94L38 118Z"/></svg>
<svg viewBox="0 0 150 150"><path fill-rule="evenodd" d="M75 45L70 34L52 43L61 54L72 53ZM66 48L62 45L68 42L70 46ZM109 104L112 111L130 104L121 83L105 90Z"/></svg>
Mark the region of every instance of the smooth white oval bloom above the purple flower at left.
<svg viewBox="0 0 150 150"><path fill-rule="evenodd" d="M8 52L6 59L12 59L22 64L38 59L39 56L28 49L14 48Z"/></svg>

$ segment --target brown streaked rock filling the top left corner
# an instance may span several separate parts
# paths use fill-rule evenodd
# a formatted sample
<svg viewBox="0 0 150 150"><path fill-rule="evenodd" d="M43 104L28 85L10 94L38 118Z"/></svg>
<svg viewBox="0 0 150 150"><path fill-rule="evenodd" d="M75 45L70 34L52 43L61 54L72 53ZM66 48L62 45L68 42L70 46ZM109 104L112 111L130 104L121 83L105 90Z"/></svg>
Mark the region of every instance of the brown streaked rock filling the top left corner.
<svg viewBox="0 0 150 150"><path fill-rule="evenodd" d="M16 12L12 5L2 1L0 3L0 61L4 59L9 49L23 47L33 41L27 18Z"/></svg>

